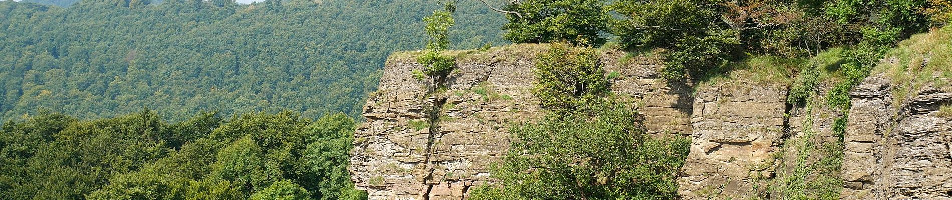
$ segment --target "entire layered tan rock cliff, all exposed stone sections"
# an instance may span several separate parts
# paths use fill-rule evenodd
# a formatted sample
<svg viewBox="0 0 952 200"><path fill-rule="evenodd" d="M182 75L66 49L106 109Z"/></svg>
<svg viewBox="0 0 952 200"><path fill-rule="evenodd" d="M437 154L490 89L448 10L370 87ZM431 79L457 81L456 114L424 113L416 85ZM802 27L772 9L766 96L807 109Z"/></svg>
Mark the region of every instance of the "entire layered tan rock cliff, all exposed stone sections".
<svg viewBox="0 0 952 200"><path fill-rule="evenodd" d="M356 187L370 199L466 199L491 181L487 168L506 151L506 127L543 115L529 89L533 60L546 48L454 52L458 70L446 90L413 78L418 53L391 56L355 134ZM692 138L679 174L684 199L952 198L952 123L937 114L952 101L948 89L926 87L897 102L887 79L870 78L851 92L839 145L832 127L840 112L822 100L788 104L790 83L752 82L743 71L703 85L666 82L652 59L602 54L605 71L620 75L611 90L638 101L649 134Z"/></svg>

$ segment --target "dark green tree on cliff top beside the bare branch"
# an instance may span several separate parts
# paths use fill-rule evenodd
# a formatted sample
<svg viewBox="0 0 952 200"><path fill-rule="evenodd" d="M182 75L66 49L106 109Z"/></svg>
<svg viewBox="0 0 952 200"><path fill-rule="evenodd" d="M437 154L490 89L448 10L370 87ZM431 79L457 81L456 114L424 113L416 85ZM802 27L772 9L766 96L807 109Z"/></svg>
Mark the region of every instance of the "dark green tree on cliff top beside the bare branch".
<svg viewBox="0 0 952 200"><path fill-rule="evenodd" d="M608 32L611 16L600 0L523 0L505 10L509 23L503 37L514 43L559 43L604 45L600 34Z"/></svg>

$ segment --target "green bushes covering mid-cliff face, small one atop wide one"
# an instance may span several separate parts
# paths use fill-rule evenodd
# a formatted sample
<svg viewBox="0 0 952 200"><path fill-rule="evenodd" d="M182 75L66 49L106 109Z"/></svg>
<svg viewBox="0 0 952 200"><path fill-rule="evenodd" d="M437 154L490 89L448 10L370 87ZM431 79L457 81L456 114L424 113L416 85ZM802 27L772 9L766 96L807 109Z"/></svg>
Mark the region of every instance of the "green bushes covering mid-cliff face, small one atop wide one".
<svg viewBox="0 0 952 200"><path fill-rule="evenodd" d="M539 55L533 94L550 112L510 128L514 142L492 170L499 181L472 199L677 197L690 139L646 136L633 104L608 91L599 60L590 46Z"/></svg>

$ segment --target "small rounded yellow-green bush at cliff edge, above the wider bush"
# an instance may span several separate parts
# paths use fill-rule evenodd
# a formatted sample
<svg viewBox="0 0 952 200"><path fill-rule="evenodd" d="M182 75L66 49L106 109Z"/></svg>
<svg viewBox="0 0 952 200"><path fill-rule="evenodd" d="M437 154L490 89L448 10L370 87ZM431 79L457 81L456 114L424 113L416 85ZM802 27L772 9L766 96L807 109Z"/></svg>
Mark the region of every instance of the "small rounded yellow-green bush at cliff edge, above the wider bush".
<svg viewBox="0 0 952 200"><path fill-rule="evenodd" d="M543 107L560 115L598 99L608 89L605 66L591 47L552 44L539 55L535 74L532 94Z"/></svg>

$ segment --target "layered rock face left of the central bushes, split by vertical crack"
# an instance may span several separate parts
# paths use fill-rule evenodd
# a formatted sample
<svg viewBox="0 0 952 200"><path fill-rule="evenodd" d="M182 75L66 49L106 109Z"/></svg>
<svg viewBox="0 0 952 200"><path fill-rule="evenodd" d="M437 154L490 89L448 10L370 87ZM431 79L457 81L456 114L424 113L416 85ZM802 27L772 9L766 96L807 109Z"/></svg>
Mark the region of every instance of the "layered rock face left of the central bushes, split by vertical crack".
<svg viewBox="0 0 952 200"><path fill-rule="evenodd" d="M461 199L486 181L509 144L506 124L541 116L529 93L534 57L491 52L459 64L445 92L413 78L423 66L391 60L355 134L350 173L370 199ZM412 60L412 59L408 59Z"/></svg>

